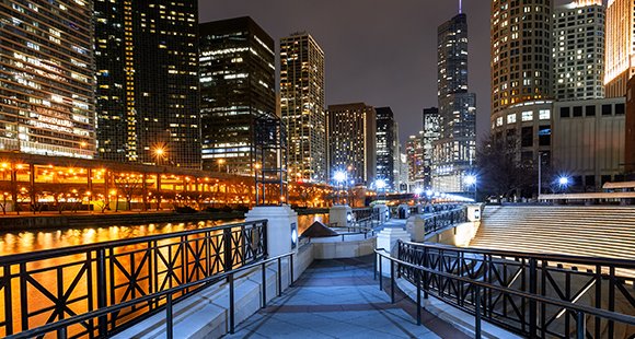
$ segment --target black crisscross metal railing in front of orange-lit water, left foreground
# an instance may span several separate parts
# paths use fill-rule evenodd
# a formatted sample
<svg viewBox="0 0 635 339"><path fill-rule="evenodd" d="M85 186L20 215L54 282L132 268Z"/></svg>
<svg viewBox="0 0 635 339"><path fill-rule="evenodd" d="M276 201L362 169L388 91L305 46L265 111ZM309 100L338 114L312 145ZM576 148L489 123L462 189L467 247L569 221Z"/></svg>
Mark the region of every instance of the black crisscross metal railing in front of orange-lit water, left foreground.
<svg viewBox="0 0 635 339"><path fill-rule="evenodd" d="M259 220L0 257L0 335L116 308L76 323L67 334L105 337L180 301L208 278L265 259L266 238L267 221ZM174 289L171 300L162 293Z"/></svg>

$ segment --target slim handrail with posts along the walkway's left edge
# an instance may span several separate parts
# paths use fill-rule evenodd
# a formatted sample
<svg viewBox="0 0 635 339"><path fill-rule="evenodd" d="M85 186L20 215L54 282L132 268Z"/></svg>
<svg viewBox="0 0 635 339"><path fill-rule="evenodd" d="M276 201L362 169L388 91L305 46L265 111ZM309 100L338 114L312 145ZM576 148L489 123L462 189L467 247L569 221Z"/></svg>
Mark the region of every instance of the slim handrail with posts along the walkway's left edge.
<svg viewBox="0 0 635 339"><path fill-rule="evenodd" d="M182 292L182 291L184 291L186 289L195 288L195 287L200 285L200 284L204 284L204 283L208 283L208 282L212 282L212 281L220 281L222 279L230 278L230 284L233 284L233 274L234 273L241 272L243 270L252 269L252 268L255 268L257 266L262 266L264 268L264 266L267 262L270 262L273 260L278 260L278 268L279 268L280 267L279 261L280 261L281 258L285 258L285 257L289 257L290 258L290 265L289 265L290 273L289 273L289 277L291 279L290 285L293 287L293 254L295 253L290 252L290 253L287 253L287 254L284 254L284 255L279 255L279 256L276 256L276 257L273 257L273 258L264 259L263 261L258 261L258 262L245 265L243 267L233 269L233 270L228 271L228 272L224 272L224 273L220 273L218 276L208 277L208 278L205 278L205 279L201 279L201 280L188 282L186 284L178 285L176 288L171 288L169 290L164 290L164 291L161 291L161 292L155 292L153 294L148 294L148 295L145 295L145 296L140 296L140 297L137 297L137 299L134 299L134 300L129 300L127 302L123 302L123 303L119 303L119 304L116 304L116 305L111 305L111 306L103 307L103 308L100 308L100 309L91 311L89 313L84 313L84 314L81 314L81 315L72 316L70 318L66 318L66 319L62 319L62 320L58 320L58 322L55 322L55 323L50 323L50 324L47 324L47 325L44 325L44 326L41 326L41 327L37 327L37 328L24 330L24 331L21 331L19 334L15 334L15 335L8 336L8 337L5 337L5 339L27 339L27 338L43 336L43 335L46 335L46 334L49 334L49 332L53 332L53 331L59 331L59 332L62 334L62 335L58 336L58 339L66 339L67 338L66 337L67 336L66 335L66 328L69 327L69 326L72 326L72 325L76 325L76 324L79 324L79 323L82 323L82 322L85 322L85 320L95 319L95 318L99 318L99 317L102 317L102 316L106 316L108 314L112 314L112 313L115 313L115 312L118 312L118 311L122 311L122 309L125 309L125 308L128 308L128 307L132 307L135 305L141 304L141 303L145 303L145 302L148 302L148 301L151 301L151 300L160 299L163 295L168 295L168 296L171 297L172 294ZM263 273L263 276L264 276L264 273ZM281 277L281 271L278 270L278 278L280 278L280 277ZM266 281L263 280L263 293L266 291L265 283L266 283ZM280 283L280 281L278 281L278 284L279 283ZM278 291L278 295L279 295L279 293L280 293L280 291ZM233 291L232 291L231 288L230 288L230 294L233 294ZM171 299L169 299L169 300L171 300ZM170 304L169 306L172 306L171 305L171 302L169 304ZM233 308L233 297L231 295L230 295L230 307ZM266 307L266 302L264 304L264 307ZM166 308L170 308L170 307L166 306ZM168 311L168 314L170 315L171 309L166 309L166 311ZM230 317L232 318L231 319L231 323L232 324L230 325L230 332L231 334L233 334L233 316L234 316L233 315L233 312L230 313ZM169 316L169 318L171 319L171 316ZM166 326L166 328L168 327L169 328L172 328L172 326L173 325L171 324L170 326ZM170 329L168 329L168 331L170 331ZM172 336L168 335L168 338L172 338Z"/></svg>

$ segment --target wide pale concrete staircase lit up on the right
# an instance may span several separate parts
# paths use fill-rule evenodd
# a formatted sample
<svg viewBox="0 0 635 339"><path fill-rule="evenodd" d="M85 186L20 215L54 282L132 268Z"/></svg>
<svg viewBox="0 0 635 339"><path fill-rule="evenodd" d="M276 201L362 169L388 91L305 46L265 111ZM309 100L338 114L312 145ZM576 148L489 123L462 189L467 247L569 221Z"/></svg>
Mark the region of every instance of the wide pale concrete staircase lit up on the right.
<svg viewBox="0 0 635 339"><path fill-rule="evenodd" d="M635 208L486 207L470 247L635 258Z"/></svg>

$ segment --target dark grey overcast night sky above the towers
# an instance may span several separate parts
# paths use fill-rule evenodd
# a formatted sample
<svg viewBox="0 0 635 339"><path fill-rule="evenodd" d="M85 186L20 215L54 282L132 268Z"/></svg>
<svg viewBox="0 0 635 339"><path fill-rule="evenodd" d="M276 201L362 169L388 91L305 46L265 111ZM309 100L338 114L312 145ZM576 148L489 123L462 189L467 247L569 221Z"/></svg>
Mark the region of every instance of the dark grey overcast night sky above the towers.
<svg viewBox="0 0 635 339"><path fill-rule="evenodd" d="M489 0L463 1L478 138L489 132ZM276 42L276 69L280 37L311 34L324 50L326 105L390 106L402 144L423 129L423 108L437 106L437 27L458 13L458 0L199 1L201 23L245 15L258 23Z"/></svg>

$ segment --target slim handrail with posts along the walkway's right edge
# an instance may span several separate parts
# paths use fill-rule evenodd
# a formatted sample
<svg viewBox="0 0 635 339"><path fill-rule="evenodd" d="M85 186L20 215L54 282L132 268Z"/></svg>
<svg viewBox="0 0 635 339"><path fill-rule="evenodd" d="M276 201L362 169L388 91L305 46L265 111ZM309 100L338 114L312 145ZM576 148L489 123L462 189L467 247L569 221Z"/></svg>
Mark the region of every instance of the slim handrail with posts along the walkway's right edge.
<svg viewBox="0 0 635 339"><path fill-rule="evenodd" d="M393 303L394 303L394 264L399 264L401 266L407 266L407 267L411 267L411 268L414 268L417 270L417 272L418 272L417 284L419 284L419 281L420 281L420 271L425 271L425 272L441 276L441 277L444 277L448 279L454 279L454 280L465 282L465 283L475 284L478 287L496 290L496 291L501 292L501 293L507 293L507 294L511 294L515 296L520 296L522 299L527 299L527 300L530 300L533 302L551 304L551 305L557 306L559 308L566 308L569 311L574 311L577 314L577 318L578 318L578 326L576 329L578 339L584 339L586 337L586 328L585 328L585 326L580 325L580 323L584 323L585 315L592 315L596 317L601 317L601 318L608 319L610 322L619 322L619 323L635 326L635 317L633 317L633 316L628 316L628 315L624 315L624 314L620 314L620 313L615 313L615 312L610 312L610 311L604 311L604 309L600 309L600 308L594 308L594 307L590 307L590 306L574 304L570 302L556 300L556 299L549 297L549 296L541 296L538 294L528 293L528 292L523 292L523 291L517 291L513 289L499 287L499 285L490 284L487 282L464 278L461 276L455 276L455 274L451 274L451 273L447 273L447 272L442 272L442 271L437 271L437 270L431 269L431 268L409 264L409 262L393 258L390 256L390 254L380 253L380 250L385 252L385 249L379 248L379 249L374 249L374 253L380 257L384 257L384 258L391 260L391 280L393 281L393 283L392 283L392 285L393 285L392 287L392 302ZM381 276L382 276L381 260L378 260L378 261L379 261L379 270L380 270L380 289L381 289L381 279L382 279L381 278ZM427 279L425 279L425 280L427 280ZM424 290L427 290L427 287L425 284L424 284ZM475 304L476 304L475 305L476 306L476 309L475 309L476 334L475 335L476 335L476 338L481 338L480 289L475 289L475 292L476 292L476 296L475 296L475 301L476 301L475 302ZM418 301L417 302L417 325L420 325L420 308L422 307L420 307L420 289L419 288L417 288L417 301Z"/></svg>

